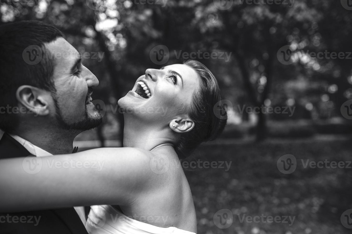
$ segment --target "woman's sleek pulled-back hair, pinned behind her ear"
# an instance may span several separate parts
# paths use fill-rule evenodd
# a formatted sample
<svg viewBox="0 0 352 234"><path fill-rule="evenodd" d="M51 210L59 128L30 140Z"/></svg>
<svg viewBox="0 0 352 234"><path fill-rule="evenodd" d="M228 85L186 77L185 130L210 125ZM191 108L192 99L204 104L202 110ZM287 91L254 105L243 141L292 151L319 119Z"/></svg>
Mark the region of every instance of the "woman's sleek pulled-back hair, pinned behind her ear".
<svg viewBox="0 0 352 234"><path fill-rule="evenodd" d="M200 78L200 87L193 94L190 106L186 107L186 113L195 126L191 131L181 134L175 147L181 159L189 156L200 143L214 140L226 125L226 118L218 118L220 115L215 115L215 111L221 111L214 108L221 101L221 96L218 81L213 73L199 61L188 60L184 64L196 71Z"/></svg>

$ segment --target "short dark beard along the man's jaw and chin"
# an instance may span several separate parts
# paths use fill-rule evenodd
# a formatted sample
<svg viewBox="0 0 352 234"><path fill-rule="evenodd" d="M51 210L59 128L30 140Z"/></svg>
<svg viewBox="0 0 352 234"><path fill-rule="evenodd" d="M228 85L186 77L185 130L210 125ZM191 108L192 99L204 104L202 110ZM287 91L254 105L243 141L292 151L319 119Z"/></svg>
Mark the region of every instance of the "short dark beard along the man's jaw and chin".
<svg viewBox="0 0 352 234"><path fill-rule="evenodd" d="M89 94L89 90L88 90L88 94ZM88 95L87 95L88 96ZM80 131L87 131L90 129L93 129L95 127L98 127L102 121L103 121L103 117L101 116L101 114L98 112L98 110L95 108L95 106L93 107L93 111L95 111L95 115L89 117L87 114L87 109L86 112L84 112L84 118L77 121L77 122L73 122L73 123L67 123L63 118L62 118L62 114L61 114L61 109L58 105L58 101L56 98L56 94L52 94L52 98L54 100L54 104L55 104L55 117L56 117L56 121L59 125L59 127L61 127L62 129L65 130L80 130Z"/></svg>

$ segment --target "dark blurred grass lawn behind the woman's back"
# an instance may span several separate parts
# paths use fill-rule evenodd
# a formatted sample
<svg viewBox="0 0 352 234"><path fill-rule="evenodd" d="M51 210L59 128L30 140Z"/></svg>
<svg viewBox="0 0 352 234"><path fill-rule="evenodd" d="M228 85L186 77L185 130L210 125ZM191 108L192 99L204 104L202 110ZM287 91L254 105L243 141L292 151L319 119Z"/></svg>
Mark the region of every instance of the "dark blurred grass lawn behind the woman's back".
<svg viewBox="0 0 352 234"><path fill-rule="evenodd" d="M308 140L202 146L191 160L232 164L227 172L225 165L185 170L194 197L198 233L351 233L352 229L342 226L340 216L352 208L352 169L304 168L301 161L351 161L351 149L350 141ZM277 160L285 154L297 159L291 174L277 168ZM221 209L231 213L219 213ZM269 216L278 216L277 223L268 223ZM231 226L219 228L226 224Z"/></svg>

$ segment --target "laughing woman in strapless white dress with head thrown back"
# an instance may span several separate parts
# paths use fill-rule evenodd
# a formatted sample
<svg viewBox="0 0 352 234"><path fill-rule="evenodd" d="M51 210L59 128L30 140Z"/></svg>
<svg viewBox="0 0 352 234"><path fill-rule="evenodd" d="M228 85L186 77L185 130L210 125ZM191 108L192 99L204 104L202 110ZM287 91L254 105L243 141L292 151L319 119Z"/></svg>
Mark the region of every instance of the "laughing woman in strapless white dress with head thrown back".
<svg viewBox="0 0 352 234"><path fill-rule="evenodd" d="M220 100L218 82L200 62L147 69L118 102L124 148L48 156L36 174L26 173L24 158L0 160L0 212L94 204L88 233L196 233L179 159L224 129L213 111ZM65 162L71 166L55 166Z"/></svg>

